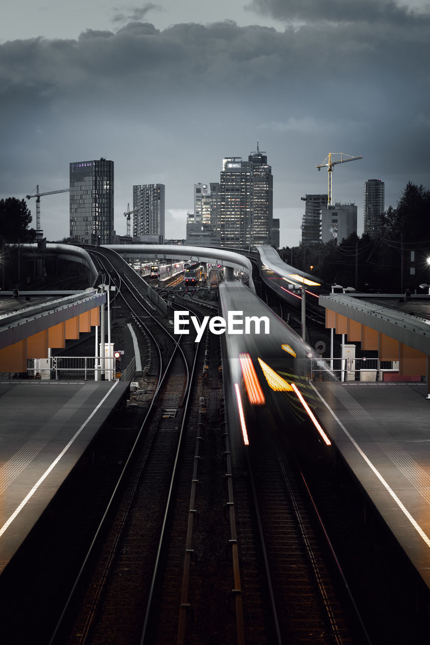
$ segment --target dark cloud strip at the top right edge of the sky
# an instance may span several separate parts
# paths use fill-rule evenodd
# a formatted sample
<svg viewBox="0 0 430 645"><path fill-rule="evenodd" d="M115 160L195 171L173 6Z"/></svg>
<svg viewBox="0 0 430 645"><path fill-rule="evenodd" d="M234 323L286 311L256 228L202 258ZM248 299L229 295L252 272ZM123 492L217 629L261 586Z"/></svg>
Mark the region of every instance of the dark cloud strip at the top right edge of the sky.
<svg viewBox="0 0 430 645"><path fill-rule="evenodd" d="M391 0L252 0L246 6L260 14L284 21L332 21L334 23L364 21L366 23L397 23L413 21L416 12ZM426 19L428 21L428 13Z"/></svg>

